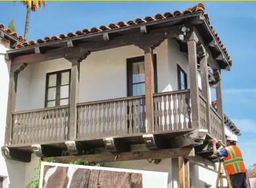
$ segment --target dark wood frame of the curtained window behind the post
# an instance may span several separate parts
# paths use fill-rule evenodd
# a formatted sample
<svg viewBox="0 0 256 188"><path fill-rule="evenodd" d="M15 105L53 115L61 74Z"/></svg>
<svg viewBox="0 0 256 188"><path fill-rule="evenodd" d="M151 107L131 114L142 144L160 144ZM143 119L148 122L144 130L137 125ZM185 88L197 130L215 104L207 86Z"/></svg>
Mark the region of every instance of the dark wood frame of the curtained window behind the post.
<svg viewBox="0 0 256 188"><path fill-rule="evenodd" d="M143 62L144 56L132 57L127 59L127 96L133 96L133 63ZM157 79L157 60L156 54L153 55L153 67L154 67L154 93L158 92L158 79Z"/></svg>

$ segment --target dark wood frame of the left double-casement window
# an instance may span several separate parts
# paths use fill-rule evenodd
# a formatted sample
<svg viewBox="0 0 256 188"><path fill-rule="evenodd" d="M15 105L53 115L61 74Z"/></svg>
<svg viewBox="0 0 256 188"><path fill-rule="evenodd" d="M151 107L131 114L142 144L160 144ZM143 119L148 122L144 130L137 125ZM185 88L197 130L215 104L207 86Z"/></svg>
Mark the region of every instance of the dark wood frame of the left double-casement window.
<svg viewBox="0 0 256 188"><path fill-rule="evenodd" d="M61 86L61 73L63 72L69 72L69 84L65 84L65 85L69 85L69 97L68 98L63 98L63 99L69 99L69 103L70 104L70 88L71 88L71 69L66 69L66 70L59 70L59 71L55 71L55 72L48 72L46 74L46 97L45 97L45 102L44 102L44 106L45 108L47 108L47 103L48 101L48 89L51 87L48 87L48 83L49 83L49 76L53 75L53 74L57 74L56 75L56 96L55 96L55 100L50 100L50 101L55 101L55 106L59 106L59 100L60 100L60 88Z"/></svg>

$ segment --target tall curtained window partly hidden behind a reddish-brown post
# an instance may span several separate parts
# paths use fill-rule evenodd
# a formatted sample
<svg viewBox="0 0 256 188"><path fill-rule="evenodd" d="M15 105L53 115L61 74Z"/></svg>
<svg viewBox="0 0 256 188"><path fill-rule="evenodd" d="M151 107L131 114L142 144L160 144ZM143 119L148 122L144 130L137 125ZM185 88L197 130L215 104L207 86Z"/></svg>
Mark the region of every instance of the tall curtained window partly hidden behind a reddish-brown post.
<svg viewBox="0 0 256 188"><path fill-rule="evenodd" d="M156 55L153 55L154 92L157 93ZM127 59L127 95L145 95L144 56Z"/></svg>

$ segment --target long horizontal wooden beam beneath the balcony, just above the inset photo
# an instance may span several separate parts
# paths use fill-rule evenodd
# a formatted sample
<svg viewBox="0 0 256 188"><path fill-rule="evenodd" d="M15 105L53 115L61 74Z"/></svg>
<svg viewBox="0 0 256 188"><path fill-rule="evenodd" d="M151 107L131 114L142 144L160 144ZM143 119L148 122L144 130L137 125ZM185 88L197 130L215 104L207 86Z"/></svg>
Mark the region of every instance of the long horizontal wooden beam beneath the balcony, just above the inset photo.
<svg viewBox="0 0 256 188"><path fill-rule="evenodd" d="M119 154L88 154L81 156L59 156L55 157L57 162L69 164L75 160L82 160L88 162L114 162L125 160L145 160L148 158L177 158L178 156L195 156L193 148L179 148L179 149L162 149L156 151L135 151L129 153ZM46 158L42 158L46 160Z"/></svg>

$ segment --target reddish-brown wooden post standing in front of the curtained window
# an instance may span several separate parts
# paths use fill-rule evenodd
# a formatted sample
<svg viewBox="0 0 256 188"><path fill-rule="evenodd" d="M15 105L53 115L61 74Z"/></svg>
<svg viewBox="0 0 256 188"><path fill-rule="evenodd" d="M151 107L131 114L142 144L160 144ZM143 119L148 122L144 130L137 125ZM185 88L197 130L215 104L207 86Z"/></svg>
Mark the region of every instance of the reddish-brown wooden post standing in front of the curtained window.
<svg viewBox="0 0 256 188"><path fill-rule="evenodd" d="M154 66L153 49L146 47L144 49L144 69L145 69L145 101L146 101L146 133L152 133L154 130Z"/></svg>

